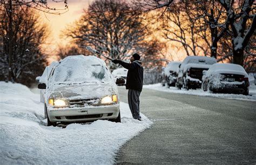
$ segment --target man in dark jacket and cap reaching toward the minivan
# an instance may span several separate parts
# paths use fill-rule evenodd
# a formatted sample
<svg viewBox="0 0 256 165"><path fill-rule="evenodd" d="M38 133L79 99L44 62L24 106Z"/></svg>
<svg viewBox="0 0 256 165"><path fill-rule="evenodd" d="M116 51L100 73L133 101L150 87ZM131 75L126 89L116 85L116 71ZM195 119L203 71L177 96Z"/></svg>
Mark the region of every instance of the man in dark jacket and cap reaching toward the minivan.
<svg viewBox="0 0 256 165"><path fill-rule="evenodd" d="M120 64L128 70L126 90L128 90L129 107L132 117L141 121L142 117L139 115L139 95L142 92L143 86L143 66L139 59L139 54L134 53L130 59L130 64L121 60L113 60L113 63Z"/></svg>

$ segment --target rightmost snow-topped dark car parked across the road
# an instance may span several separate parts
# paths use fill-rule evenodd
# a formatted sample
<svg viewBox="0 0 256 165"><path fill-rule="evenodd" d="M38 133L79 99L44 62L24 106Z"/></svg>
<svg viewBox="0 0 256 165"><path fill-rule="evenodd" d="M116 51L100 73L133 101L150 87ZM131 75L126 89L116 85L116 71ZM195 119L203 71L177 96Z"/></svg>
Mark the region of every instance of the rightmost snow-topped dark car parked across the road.
<svg viewBox="0 0 256 165"><path fill-rule="evenodd" d="M204 91L249 94L248 74L237 64L213 64L203 72Z"/></svg>

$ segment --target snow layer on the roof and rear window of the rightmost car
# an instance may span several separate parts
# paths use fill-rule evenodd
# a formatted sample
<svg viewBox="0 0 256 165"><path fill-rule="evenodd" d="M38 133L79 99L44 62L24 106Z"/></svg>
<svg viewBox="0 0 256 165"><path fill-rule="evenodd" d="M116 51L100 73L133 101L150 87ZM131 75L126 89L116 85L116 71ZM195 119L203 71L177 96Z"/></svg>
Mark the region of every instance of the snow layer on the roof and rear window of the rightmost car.
<svg viewBox="0 0 256 165"><path fill-rule="evenodd" d="M207 71L207 75L211 73L230 73L230 74L242 74L248 77L245 69L241 65L237 64L213 64Z"/></svg>

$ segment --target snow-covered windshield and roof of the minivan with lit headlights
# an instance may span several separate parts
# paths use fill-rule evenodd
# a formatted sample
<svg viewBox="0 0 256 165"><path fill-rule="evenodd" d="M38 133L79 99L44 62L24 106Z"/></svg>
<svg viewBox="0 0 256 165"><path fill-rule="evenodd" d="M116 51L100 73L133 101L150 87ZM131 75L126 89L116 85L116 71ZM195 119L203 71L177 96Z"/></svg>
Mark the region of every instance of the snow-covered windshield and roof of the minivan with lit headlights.
<svg viewBox="0 0 256 165"><path fill-rule="evenodd" d="M68 56L61 60L53 71L56 83L109 82L111 74L105 62L95 56Z"/></svg>

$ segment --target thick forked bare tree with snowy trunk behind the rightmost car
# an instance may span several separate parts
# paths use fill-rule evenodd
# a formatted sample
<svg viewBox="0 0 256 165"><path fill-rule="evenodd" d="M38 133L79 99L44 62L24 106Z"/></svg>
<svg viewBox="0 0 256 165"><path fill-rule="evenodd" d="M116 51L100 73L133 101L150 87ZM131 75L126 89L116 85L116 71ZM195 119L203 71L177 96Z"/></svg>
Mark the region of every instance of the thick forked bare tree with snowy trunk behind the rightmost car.
<svg viewBox="0 0 256 165"><path fill-rule="evenodd" d="M245 47L250 42L256 28L254 0L224 1L219 0L230 18L232 31L233 63L244 65ZM251 20L251 23L250 23Z"/></svg>

